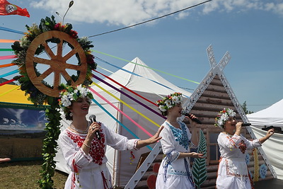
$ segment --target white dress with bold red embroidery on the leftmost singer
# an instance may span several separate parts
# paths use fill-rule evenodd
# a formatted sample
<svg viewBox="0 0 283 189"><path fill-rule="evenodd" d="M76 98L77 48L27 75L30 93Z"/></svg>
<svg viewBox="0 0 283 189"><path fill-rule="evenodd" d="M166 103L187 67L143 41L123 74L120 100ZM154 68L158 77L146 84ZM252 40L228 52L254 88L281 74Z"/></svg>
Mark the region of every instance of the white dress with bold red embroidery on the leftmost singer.
<svg viewBox="0 0 283 189"><path fill-rule="evenodd" d="M86 134L78 134L66 129L59 134L58 144L62 150L71 173L65 183L65 188L112 188L111 176L106 167L108 159L105 156L106 145L117 150L135 149L138 139L127 139L116 134L101 124L100 137L91 141L91 151L85 154L81 149Z"/></svg>

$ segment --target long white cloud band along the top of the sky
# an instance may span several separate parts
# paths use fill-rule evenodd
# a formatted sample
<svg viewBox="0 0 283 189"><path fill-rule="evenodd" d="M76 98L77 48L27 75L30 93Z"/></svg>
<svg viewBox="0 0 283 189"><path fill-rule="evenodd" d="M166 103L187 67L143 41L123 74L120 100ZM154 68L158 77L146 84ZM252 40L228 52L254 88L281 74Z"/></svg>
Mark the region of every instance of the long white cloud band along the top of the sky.
<svg viewBox="0 0 283 189"><path fill-rule="evenodd" d="M85 23L108 23L110 25L131 25L151 18L163 16L205 0L85 0L74 1L74 5L67 14L68 21ZM69 0L42 0L32 1L31 6L45 9L51 13L56 11L64 16ZM266 2L265 0L213 0L199 6L200 13L209 14L212 11L248 11L250 9L272 11L283 15L283 0ZM192 8L195 10L196 8ZM192 11L183 11L175 18L184 18Z"/></svg>

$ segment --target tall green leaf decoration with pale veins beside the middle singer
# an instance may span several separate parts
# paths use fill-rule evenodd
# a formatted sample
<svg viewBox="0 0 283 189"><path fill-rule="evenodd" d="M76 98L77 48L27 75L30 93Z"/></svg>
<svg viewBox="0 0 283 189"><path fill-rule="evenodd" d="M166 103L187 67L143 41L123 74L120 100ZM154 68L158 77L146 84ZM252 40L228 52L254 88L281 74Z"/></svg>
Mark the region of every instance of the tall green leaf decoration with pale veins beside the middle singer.
<svg viewBox="0 0 283 189"><path fill-rule="evenodd" d="M200 143L197 147L197 153L204 154L204 156L206 156L207 154L207 142L202 130L200 130ZM194 163L192 164L192 176L197 188L200 188L200 185L202 185L202 183L207 180L207 163L205 158L195 159Z"/></svg>

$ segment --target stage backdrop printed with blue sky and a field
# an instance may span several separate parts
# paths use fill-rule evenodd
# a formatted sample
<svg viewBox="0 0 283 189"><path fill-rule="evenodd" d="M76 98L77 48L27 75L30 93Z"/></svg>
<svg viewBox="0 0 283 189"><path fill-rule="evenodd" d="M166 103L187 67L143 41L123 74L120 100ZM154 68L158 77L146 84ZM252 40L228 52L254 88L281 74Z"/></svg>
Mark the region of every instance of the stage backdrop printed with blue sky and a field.
<svg viewBox="0 0 283 189"><path fill-rule="evenodd" d="M12 161L42 159L45 107L0 103L0 157Z"/></svg>

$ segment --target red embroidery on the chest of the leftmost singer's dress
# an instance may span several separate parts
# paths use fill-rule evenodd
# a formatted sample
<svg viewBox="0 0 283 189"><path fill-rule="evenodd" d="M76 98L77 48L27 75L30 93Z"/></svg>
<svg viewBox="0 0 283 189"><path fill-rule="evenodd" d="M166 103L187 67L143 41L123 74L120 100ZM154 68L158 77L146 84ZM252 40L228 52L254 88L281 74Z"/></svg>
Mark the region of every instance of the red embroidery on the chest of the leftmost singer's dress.
<svg viewBox="0 0 283 189"><path fill-rule="evenodd" d="M85 136L70 131L67 131L67 135L78 145L78 147L81 147L86 139ZM91 141L91 150L89 151L90 156L93 158L93 162L98 165L102 165L103 157L105 156L105 134L103 134L102 129L100 129L100 137L101 139L97 139L96 137L93 138Z"/></svg>

